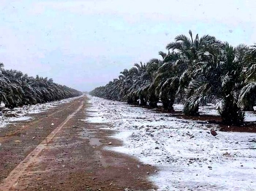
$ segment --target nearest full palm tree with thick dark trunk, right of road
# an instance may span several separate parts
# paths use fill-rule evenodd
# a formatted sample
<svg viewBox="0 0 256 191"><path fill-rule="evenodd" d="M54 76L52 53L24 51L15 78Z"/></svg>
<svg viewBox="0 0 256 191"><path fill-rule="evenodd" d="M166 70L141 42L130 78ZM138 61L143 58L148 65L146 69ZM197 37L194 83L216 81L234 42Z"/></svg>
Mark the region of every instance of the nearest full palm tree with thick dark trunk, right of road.
<svg viewBox="0 0 256 191"><path fill-rule="evenodd" d="M245 45L213 44L198 53L198 60L188 71L191 81L184 108L192 112L200 103L218 100L218 112L224 124L242 125L244 113L238 106L240 74Z"/></svg>

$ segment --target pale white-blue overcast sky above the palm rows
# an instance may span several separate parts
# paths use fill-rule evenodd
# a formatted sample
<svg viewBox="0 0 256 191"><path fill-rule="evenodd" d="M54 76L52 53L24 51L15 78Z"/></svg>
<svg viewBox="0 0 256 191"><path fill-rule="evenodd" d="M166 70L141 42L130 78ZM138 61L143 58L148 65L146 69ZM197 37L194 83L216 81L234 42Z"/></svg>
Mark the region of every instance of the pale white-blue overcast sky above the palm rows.
<svg viewBox="0 0 256 191"><path fill-rule="evenodd" d="M0 0L0 62L79 90L159 57L178 34L256 42L256 0Z"/></svg>

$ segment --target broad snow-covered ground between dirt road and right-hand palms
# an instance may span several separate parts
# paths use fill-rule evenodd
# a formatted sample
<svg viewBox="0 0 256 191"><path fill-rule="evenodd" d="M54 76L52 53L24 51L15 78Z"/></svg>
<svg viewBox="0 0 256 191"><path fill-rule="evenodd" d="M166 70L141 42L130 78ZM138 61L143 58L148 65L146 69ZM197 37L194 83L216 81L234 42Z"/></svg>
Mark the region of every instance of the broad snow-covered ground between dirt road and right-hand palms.
<svg viewBox="0 0 256 191"><path fill-rule="evenodd" d="M109 147L154 165L159 172L150 178L160 191L256 190L256 134L218 132L216 125L182 120L169 114L91 97L88 122L111 124L119 133L121 147ZM208 107L208 108L207 108ZM201 108L215 114L213 106ZM175 105L182 109L182 105ZM252 114L250 114L252 115ZM256 115L252 115L256 121ZM227 150L222 150L227 149Z"/></svg>

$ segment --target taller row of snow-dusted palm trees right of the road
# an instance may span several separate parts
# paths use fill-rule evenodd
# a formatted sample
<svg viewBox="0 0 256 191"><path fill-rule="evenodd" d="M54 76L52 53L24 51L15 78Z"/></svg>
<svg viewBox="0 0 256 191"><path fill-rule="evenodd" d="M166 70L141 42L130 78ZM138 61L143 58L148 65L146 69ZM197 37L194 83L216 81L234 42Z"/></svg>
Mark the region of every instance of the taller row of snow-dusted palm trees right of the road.
<svg viewBox="0 0 256 191"><path fill-rule="evenodd" d="M198 115L199 106L211 102L224 124L243 124L244 110L252 111L256 98L256 45L233 47L210 35L193 38L189 31L166 49L161 59L135 64L90 94L152 108L161 100L168 111L182 102L184 115Z"/></svg>

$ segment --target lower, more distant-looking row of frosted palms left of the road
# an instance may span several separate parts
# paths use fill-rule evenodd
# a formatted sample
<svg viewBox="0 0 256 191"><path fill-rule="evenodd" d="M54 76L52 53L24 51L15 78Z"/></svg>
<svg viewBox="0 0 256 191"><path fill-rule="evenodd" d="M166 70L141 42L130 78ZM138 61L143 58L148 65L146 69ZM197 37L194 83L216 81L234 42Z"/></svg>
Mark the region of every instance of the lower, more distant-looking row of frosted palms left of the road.
<svg viewBox="0 0 256 191"><path fill-rule="evenodd" d="M47 77L31 77L3 67L4 64L0 63L0 103L4 103L6 108L52 102L82 94Z"/></svg>

